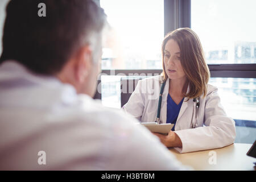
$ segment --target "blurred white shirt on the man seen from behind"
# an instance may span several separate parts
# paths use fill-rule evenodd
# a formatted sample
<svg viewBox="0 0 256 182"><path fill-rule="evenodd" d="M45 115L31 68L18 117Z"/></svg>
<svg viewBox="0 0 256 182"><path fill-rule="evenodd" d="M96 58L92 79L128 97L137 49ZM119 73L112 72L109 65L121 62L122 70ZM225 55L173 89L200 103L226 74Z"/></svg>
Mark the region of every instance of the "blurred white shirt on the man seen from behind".
<svg viewBox="0 0 256 182"><path fill-rule="evenodd" d="M188 169L136 119L55 77L6 61L0 88L0 170Z"/></svg>

